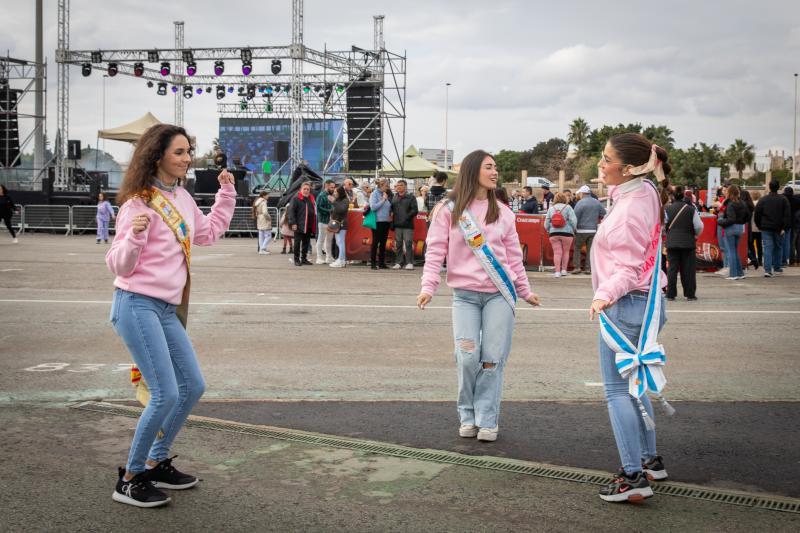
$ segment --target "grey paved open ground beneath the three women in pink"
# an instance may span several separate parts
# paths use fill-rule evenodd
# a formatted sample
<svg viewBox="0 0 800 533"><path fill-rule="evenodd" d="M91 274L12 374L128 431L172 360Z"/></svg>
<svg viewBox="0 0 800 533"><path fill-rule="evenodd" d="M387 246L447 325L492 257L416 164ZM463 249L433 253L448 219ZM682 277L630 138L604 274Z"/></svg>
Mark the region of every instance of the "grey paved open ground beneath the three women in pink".
<svg viewBox="0 0 800 533"><path fill-rule="evenodd" d="M110 499L114 467L124 462L135 420L70 408L82 400L133 395L129 356L108 323L113 277L103 261L106 246L96 245L91 236L24 234L17 245L5 237L0 239L0 453L6 483L0 491L0 530L188 525L197 530L594 531L657 524L666 530L744 531L800 525L797 514L667 496L645 505L612 506L596 497L596 487L580 483L196 428L178 437L174 452L180 454L179 467L204 478L197 490L176 494L169 507L157 511L115 504ZM326 417L309 415L304 425L285 417L283 425L346 435L352 434L350 426L331 422L353 419L351 404L344 401L392 400L387 402L392 410L371 411L370 416L380 415L374 424L359 422L365 435L407 442L409 435L424 431L416 421L426 419L441 422L431 435L457 429L454 407L447 418L456 381L446 287L422 312L414 307L420 269L295 268L276 253L274 243L272 255L254 250L250 239L225 239L194 250L189 332L208 383L205 398L226 400L224 409L208 403L198 412L215 408L214 416L244 420L248 409L254 411L245 400L321 400L328 402L319 404L325 405ZM773 279L761 273L748 271L741 282L701 274L698 302L668 304L661 340L669 360L667 396L679 411L675 422L659 423L660 452L676 473L688 470L684 460L696 464L693 468L702 471L697 478L709 486L796 496L782 487L800 486L797 454L790 444L777 446L785 455L776 454L772 435L764 433L775 431L786 442L797 442L800 269ZM515 408L509 403L504 412L496 453L606 469L616 464L616 451L590 440L605 430L603 442L611 442L598 386L597 325L586 311L590 280L546 273L530 273L530 278L543 307L520 308L517 314L504 389ZM415 401L413 413L412 404L404 403L409 401ZM593 431L568 433L571 442L562 447L569 453L559 454L552 445L558 441L557 427L526 433L521 421L529 408L564 403L573 406L563 411L565 427L574 417ZM582 404L588 404L586 411L574 408ZM274 403L264 405L277 409ZM313 404L304 409L323 411ZM766 423L765 417L775 413L778 420ZM713 428L705 425L706 417ZM373 434L387 419L404 429ZM728 424L720 423L726 419ZM547 451L538 453L531 445L541 442L534 432L548 430ZM681 432L691 438L681 438ZM420 445L437 447L431 435ZM442 439L438 447L447 449L451 440ZM736 454L726 453L728 442L735 444ZM728 462L748 461L748 445L758 468L726 469ZM581 454L582 448L591 453ZM492 455L492 449L484 454ZM596 459L576 462L581 455ZM764 483L761 478L769 476L787 479Z"/></svg>

